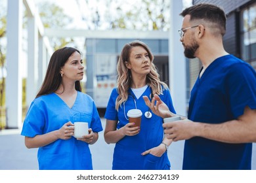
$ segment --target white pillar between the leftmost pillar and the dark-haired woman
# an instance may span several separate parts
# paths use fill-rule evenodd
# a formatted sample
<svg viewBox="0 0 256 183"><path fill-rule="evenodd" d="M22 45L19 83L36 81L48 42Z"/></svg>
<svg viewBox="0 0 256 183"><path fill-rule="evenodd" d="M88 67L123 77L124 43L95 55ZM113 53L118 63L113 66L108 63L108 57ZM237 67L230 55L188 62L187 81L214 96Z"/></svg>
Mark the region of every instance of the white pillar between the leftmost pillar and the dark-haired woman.
<svg viewBox="0 0 256 183"><path fill-rule="evenodd" d="M38 29L34 17L28 17L28 77L26 105L30 106L37 93L38 80Z"/></svg>

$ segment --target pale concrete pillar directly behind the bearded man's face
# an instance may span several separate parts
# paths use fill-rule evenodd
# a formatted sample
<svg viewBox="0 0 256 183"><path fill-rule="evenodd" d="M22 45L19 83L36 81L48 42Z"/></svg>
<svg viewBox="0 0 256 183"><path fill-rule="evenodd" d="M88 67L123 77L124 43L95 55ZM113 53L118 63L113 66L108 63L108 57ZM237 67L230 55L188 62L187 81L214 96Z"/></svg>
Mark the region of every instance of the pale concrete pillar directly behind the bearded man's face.
<svg viewBox="0 0 256 183"><path fill-rule="evenodd" d="M177 114L186 116L186 63L178 30L181 29L182 1L171 1L171 29L169 31L169 86Z"/></svg>

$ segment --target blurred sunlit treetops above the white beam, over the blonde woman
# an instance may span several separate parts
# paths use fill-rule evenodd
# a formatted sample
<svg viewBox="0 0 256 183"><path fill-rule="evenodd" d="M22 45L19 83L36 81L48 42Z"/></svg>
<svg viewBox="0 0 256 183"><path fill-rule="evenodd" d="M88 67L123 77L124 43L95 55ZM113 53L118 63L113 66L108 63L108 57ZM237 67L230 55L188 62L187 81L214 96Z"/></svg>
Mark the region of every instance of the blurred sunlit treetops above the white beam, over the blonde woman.
<svg viewBox="0 0 256 183"><path fill-rule="evenodd" d="M85 2L87 7L90 7L91 1L85 0ZM83 18L88 24L88 29L169 30L169 0L96 0L94 2L96 7L85 10L91 10L91 16ZM99 10L100 5L108 8L104 11ZM115 12L112 9L115 9Z"/></svg>

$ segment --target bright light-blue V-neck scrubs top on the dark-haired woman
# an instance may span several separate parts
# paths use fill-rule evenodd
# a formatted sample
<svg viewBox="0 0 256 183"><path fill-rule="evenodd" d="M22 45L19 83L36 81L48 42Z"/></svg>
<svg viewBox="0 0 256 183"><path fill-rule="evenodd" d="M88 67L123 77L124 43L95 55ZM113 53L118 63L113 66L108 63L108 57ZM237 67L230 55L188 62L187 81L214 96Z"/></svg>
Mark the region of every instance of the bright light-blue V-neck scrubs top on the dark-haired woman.
<svg viewBox="0 0 256 183"><path fill-rule="evenodd" d="M33 100L24 120L22 133L35 137L60 129L67 122L88 122L94 132L102 131L95 103L89 95L77 92L74 106L68 107L55 93ZM74 137L58 139L37 152L39 169L93 169L89 144Z"/></svg>

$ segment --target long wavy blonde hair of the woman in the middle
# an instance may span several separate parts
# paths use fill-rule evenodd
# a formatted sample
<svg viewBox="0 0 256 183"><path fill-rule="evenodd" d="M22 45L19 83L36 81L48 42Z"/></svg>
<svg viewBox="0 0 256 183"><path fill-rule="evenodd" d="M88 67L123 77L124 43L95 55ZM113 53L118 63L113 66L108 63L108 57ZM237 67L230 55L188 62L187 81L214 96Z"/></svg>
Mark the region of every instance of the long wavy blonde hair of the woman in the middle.
<svg viewBox="0 0 256 183"><path fill-rule="evenodd" d="M131 71L126 67L125 61L130 61L131 48L135 46L142 46L146 50L146 52L148 52L148 56L150 58L151 63L151 70L150 73L146 75L146 84L150 86L152 94L161 95L163 94L163 89L168 88L167 84L160 81L159 74L156 71L156 66L153 63L154 56L150 51L150 48L148 48L148 46L141 41L133 41L127 43L125 44L125 46L123 46L123 50L121 51L121 54L117 62L117 93L119 95L116 99L116 110L118 110L118 108L123 102L127 101L128 90L129 88L131 88Z"/></svg>

